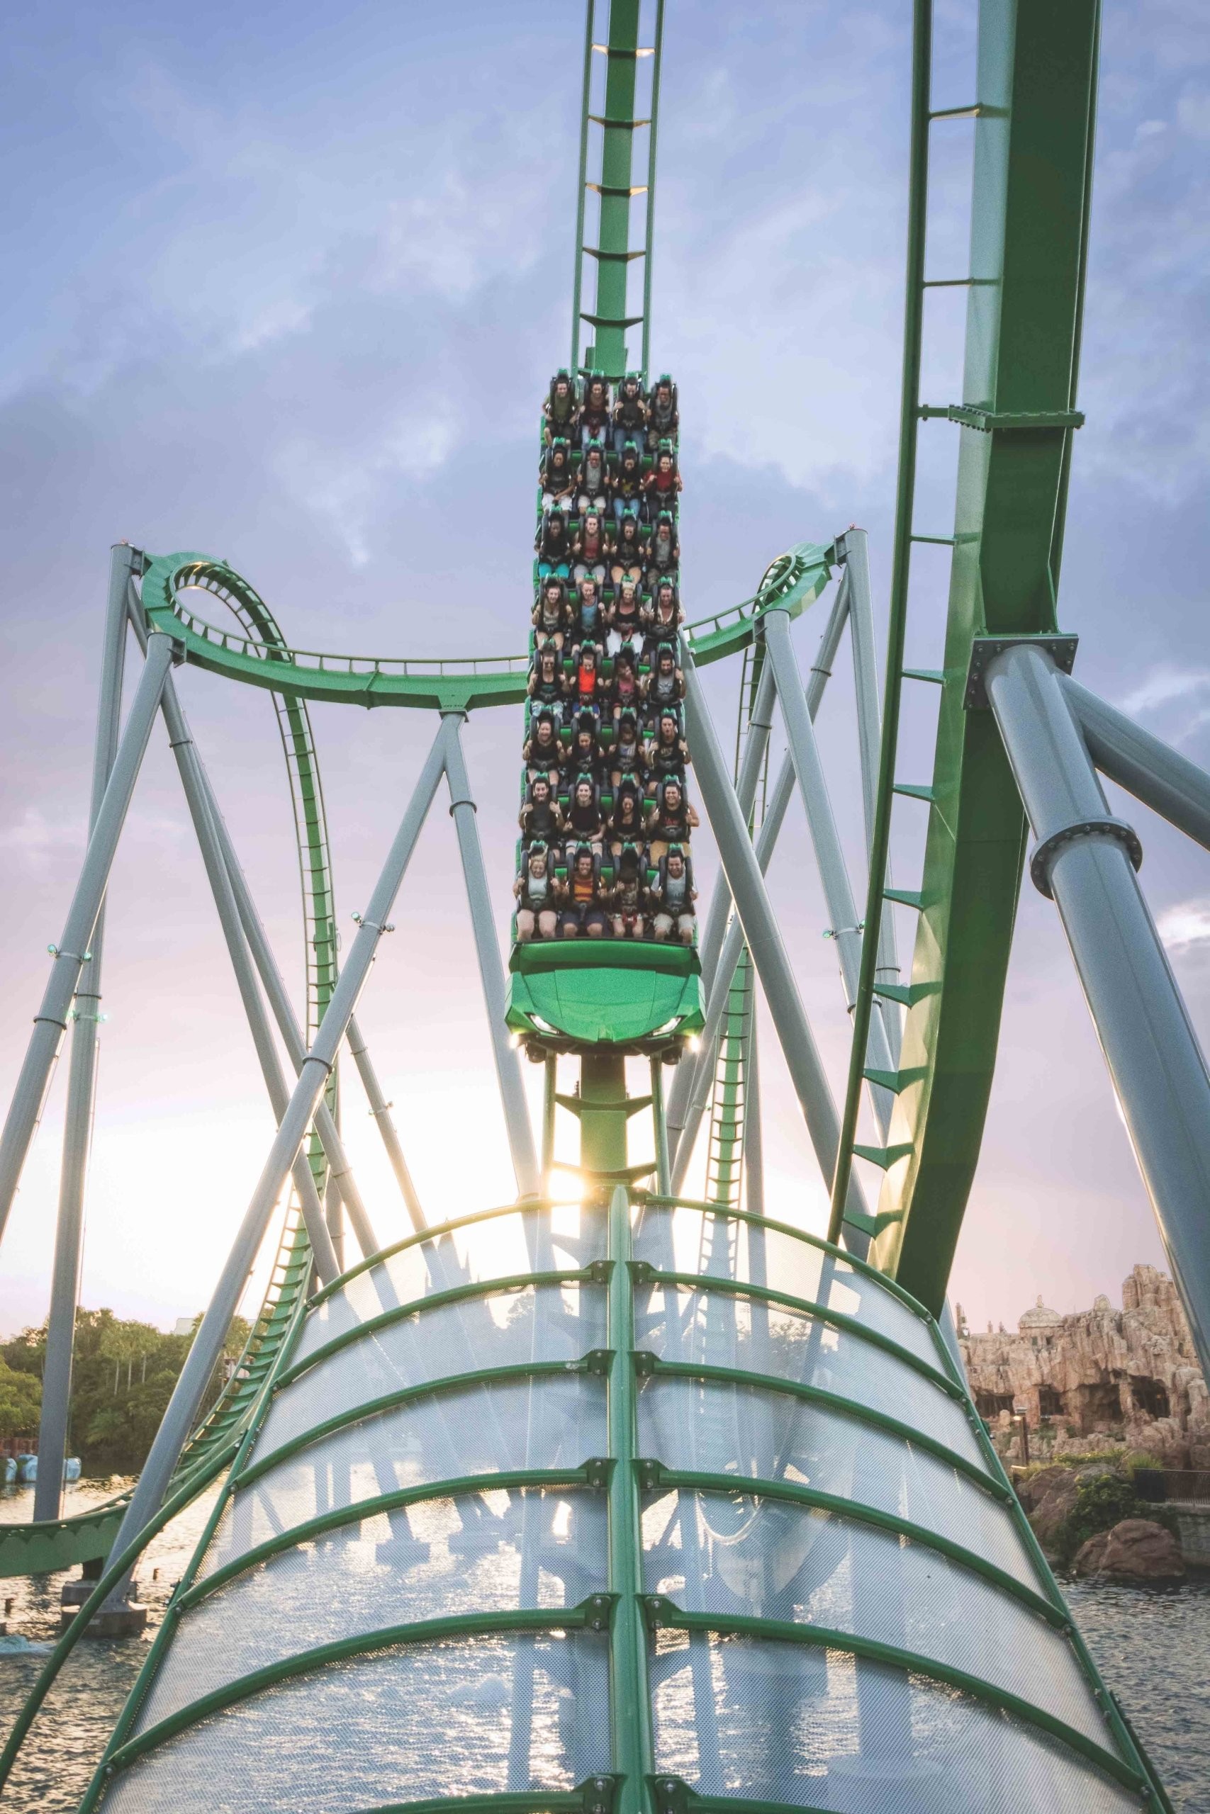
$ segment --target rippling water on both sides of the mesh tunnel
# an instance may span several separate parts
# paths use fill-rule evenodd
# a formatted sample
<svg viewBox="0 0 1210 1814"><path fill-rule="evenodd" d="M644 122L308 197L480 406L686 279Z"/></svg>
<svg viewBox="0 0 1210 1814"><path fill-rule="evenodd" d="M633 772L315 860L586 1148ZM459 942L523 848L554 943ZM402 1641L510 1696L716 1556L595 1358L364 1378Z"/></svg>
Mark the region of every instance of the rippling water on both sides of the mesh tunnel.
<svg viewBox="0 0 1210 1814"><path fill-rule="evenodd" d="M118 1491L82 1484L67 1507L85 1511ZM140 1571L151 1624L141 1638L85 1640L45 1702L4 1798L11 1814L71 1814L112 1731L172 1585L201 1535L218 1487L151 1544ZM0 1491L0 1522L33 1515L33 1489ZM160 1578L152 1580L152 1571ZM9 1631L49 1643L58 1631L65 1575L0 1584L13 1598ZM1179 1814L1210 1814L1210 1576L1179 1587L1072 1582L1069 1600L1107 1683L1159 1770ZM0 1656L0 1732L7 1732L42 1669L44 1654ZM1078 1814L1078 1810L1072 1810Z"/></svg>

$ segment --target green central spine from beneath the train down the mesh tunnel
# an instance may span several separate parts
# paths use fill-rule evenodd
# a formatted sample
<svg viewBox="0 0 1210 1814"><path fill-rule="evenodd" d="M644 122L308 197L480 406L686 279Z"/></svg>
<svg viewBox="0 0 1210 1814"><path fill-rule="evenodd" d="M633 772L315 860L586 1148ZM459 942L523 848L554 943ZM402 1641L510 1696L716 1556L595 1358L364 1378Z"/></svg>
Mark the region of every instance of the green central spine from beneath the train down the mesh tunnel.
<svg viewBox="0 0 1210 1814"><path fill-rule="evenodd" d="M617 1814L651 1805L651 1703L648 1636L642 1616L642 1531L635 1473L635 1308L631 1295L629 1194L626 1170L626 1061L611 1052L581 1059L581 1165L586 1183L610 1179L610 1593L617 1595L610 1634L610 1723Z"/></svg>

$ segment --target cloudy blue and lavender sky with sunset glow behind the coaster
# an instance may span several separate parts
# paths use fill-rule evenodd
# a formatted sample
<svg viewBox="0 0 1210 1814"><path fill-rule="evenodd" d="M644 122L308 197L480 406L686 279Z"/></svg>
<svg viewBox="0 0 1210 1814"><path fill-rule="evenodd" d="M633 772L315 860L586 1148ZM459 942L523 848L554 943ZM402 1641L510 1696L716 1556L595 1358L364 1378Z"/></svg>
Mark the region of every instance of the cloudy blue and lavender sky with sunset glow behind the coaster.
<svg viewBox="0 0 1210 1814"><path fill-rule="evenodd" d="M885 617L902 332L911 44L898 0L669 0L653 361L680 383L689 617L751 595L796 541L871 537ZM972 100L972 7L936 9L934 103ZM570 339L582 13L537 0L47 0L5 24L0 147L0 1101L83 851L107 550L230 561L301 648L522 648L535 415ZM929 267L961 268L969 127L936 136ZM1210 20L1107 0L1088 303L1059 620L1078 677L1210 762ZM925 395L958 397L961 314L934 292ZM956 435L922 441L918 524L952 519ZM932 666L943 551L914 570ZM212 606L220 615L220 606ZM816 613L818 617L818 608ZM820 624L796 631L809 664ZM298 863L267 695L180 695L283 967ZM738 673L709 675L724 736ZM912 707L916 713L916 707ZM432 724L314 709L339 920L365 905ZM818 720L862 892L851 677ZM466 731L506 936L515 711ZM780 756L780 731L775 733ZM931 726L909 715L927 775ZM1210 867L1136 804L1143 882L1203 1039ZM911 816L896 876L920 862ZM713 873L709 840L695 849ZM845 1018L795 804L771 892L833 1087ZM361 1005L430 1219L506 1201L454 831L439 802ZM900 927L902 949L912 927ZM152 735L109 889L83 1302L198 1312L272 1121L167 740ZM767 1019L767 1016L766 1016ZM767 1208L825 1190L762 1043ZM530 1067L526 1067L530 1070ZM45 1315L63 1072L0 1259L0 1331ZM535 1083L535 1074L528 1076ZM346 1141L383 1239L405 1217L356 1079ZM570 1130L562 1152L571 1154ZM1096 1036L1049 902L1025 887L983 1156L952 1292L972 1326L1043 1293L1119 1301L1159 1263ZM256 1301L259 1275L249 1290Z"/></svg>

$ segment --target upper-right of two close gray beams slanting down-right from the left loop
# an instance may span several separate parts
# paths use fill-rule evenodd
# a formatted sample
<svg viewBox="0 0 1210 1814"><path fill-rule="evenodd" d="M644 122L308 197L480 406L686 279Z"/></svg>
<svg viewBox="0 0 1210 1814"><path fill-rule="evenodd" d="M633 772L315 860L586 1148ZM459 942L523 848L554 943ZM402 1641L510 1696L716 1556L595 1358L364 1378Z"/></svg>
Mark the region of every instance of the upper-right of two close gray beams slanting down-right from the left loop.
<svg viewBox="0 0 1210 1814"><path fill-rule="evenodd" d="M147 620L143 617L141 602L136 597L129 597L127 608L131 613L131 628L134 629L134 635L140 640L140 644L145 644ZM185 720L185 713L176 697L176 686L171 675L163 688L161 709L163 709L163 722L169 733L169 746L172 747L178 758L176 767L181 776L181 787L185 789L185 802L189 805L194 825L198 825L198 816L201 814L212 827L214 838L218 840L221 863L236 900L236 909L239 914L239 925L243 929L243 936L249 941L252 961L261 980L261 987L265 989L265 996L268 998L272 1016L278 1021L278 1029L281 1032L281 1039L290 1058L290 1065L298 1072L301 1070L303 1059L307 1058L307 1043L303 1039L303 1032L294 1014L288 990L285 987L285 981L281 980L278 960L272 954L268 936L256 911L256 903L252 900L247 876L243 873L243 867L239 865L239 858L236 856L236 847L230 842L230 833L220 811L220 804L214 796L210 776L205 771L205 764L201 760L201 755L198 753L198 746L192 740L192 733ZM185 749L190 751L192 756L192 760L189 762L183 762L180 755ZM337 1192L341 1194L345 1208L348 1210L348 1221L352 1223L354 1234L357 1237L357 1246L361 1248L365 1257L368 1257L370 1253L377 1253L379 1241L370 1224L370 1215L366 1212L366 1206L361 1201L361 1192L354 1183L348 1156L345 1152L345 1143L341 1141L336 1121L332 1119L332 1110L328 1108L327 1101L319 1101L319 1107L316 1108L316 1134L319 1136L319 1141L323 1145L328 1161L330 1179L336 1185Z"/></svg>

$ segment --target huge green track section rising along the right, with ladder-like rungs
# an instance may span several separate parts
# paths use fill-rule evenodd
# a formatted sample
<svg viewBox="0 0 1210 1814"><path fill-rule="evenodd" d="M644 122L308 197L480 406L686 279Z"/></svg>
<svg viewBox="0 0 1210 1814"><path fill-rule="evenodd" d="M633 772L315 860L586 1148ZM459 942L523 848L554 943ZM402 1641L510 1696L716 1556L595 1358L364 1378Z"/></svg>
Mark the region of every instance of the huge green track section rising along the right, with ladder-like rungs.
<svg viewBox="0 0 1210 1814"><path fill-rule="evenodd" d="M900 439L882 842L865 923L876 925L885 873L912 535L920 419L918 346L927 203L929 5L918 0L912 107L912 241ZM927 796L929 831L902 1067L874 1259L940 1312L978 1161L990 1090L1009 945L1025 854L1025 814L990 713L967 711L978 635L1056 629L1088 234L1098 0L985 0L963 405L956 421L958 504L943 688ZM931 434L954 430L932 428ZM914 811L914 809L912 809ZM856 1132L864 1029L874 994L864 965L836 1185ZM891 990L885 990L887 994ZM838 1232L833 1197L833 1228Z"/></svg>

